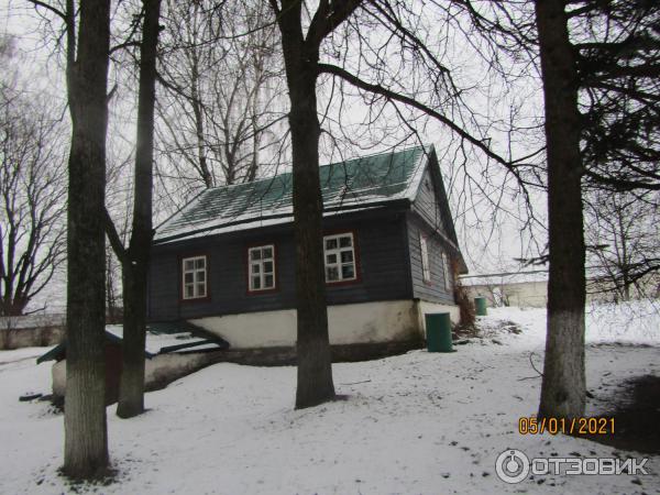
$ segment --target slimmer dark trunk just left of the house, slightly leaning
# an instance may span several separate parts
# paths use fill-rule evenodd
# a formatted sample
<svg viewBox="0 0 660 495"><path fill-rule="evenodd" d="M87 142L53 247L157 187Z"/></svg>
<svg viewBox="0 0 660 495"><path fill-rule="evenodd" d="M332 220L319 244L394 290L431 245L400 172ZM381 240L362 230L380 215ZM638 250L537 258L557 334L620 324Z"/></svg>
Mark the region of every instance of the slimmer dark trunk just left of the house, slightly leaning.
<svg viewBox="0 0 660 495"><path fill-rule="evenodd" d="M122 372L117 406L117 415L122 418L138 416L144 411L146 283L153 237L154 105L161 0L143 0L143 4L133 226L131 243L122 261L124 319Z"/></svg>

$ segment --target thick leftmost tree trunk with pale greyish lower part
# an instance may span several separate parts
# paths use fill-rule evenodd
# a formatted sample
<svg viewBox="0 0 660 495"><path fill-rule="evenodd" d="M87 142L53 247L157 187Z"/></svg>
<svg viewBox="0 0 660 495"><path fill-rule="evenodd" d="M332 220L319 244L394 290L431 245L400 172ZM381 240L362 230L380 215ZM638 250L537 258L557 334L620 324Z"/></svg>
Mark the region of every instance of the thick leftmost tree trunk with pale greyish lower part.
<svg viewBox="0 0 660 495"><path fill-rule="evenodd" d="M70 13L70 11L69 11ZM73 132L67 223L67 349L64 472L108 468L105 360L106 102L110 1L80 2L78 58L68 67Z"/></svg>

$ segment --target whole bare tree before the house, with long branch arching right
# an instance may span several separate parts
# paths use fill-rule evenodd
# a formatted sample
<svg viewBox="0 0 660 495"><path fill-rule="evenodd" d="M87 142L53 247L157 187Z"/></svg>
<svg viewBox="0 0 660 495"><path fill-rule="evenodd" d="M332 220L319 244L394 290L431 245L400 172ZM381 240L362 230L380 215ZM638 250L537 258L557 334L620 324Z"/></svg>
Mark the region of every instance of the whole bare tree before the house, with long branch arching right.
<svg viewBox="0 0 660 495"><path fill-rule="evenodd" d="M290 100L288 117L297 243L296 406L308 407L333 396L322 270L322 201L318 176L321 133L317 109L319 76L330 76L332 90L340 92L345 90L345 86L351 86L369 95L364 97L367 101L384 102L397 114L404 107L433 118L457 135L462 144L473 146L487 160L502 164L520 184L526 182L520 174L522 163L499 155L485 136L471 133L468 129L471 123L463 121L462 114L455 113L461 101L461 89L453 84L449 68L439 62L426 44L428 32L420 28L424 23L416 24L419 14L414 12L413 7L406 2L380 0L321 1L316 11L309 11L297 1L271 0L271 6L282 34ZM374 26L381 26L387 35L376 35L370 40L365 33ZM329 61L321 63L322 46L322 55ZM358 55L352 56L350 51L354 46L360 50ZM400 54L398 65L391 64L391 57L386 54L393 57L394 54ZM360 74L361 69L365 70L364 75ZM323 118L328 117L329 107L330 102ZM479 125L473 129L477 132L483 130Z"/></svg>

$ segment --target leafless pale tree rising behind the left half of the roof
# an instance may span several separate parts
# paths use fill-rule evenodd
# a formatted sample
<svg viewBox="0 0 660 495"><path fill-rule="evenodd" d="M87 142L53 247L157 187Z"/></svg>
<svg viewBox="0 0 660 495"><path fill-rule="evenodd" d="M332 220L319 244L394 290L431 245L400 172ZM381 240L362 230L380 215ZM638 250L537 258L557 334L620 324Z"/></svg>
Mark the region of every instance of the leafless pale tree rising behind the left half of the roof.
<svg viewBox="0 0 660 495"><path fill-rule="evenodd" d="M284 114L267 13L261 1L165 4L160 151L191 187L253 180L272 160Z"/></svg>

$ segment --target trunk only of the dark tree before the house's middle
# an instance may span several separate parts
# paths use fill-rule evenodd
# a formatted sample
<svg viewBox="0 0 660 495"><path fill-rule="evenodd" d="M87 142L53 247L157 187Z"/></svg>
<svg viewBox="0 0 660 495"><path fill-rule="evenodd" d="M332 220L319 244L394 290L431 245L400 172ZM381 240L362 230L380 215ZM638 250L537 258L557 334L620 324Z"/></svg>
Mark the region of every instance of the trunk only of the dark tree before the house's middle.
<svg viewBox="0 0 660 495"><path fill-rule="evenodd" d="M289 88L293 145L298 315L296 408L305 408L334 397L323 267L323 201L319 179L320 124L316 97L319 52L318 46L309 46L304 41L300 2L283 2L279 26Z"/></svg>

